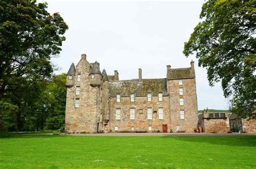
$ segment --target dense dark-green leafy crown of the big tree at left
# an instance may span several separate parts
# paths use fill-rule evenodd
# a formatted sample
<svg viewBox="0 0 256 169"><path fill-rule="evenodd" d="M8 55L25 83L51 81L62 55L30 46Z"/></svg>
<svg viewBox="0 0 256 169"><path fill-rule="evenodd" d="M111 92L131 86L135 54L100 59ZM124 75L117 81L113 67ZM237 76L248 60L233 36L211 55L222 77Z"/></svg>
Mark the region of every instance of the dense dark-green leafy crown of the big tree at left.
<svg viewBox="0 0 256 169"><path fill-rule="evenodd" d="M68 25L46 8L36 0L0 1L0 100L18 96L20 82L51 77L50 58L61 51Z"/></svg>

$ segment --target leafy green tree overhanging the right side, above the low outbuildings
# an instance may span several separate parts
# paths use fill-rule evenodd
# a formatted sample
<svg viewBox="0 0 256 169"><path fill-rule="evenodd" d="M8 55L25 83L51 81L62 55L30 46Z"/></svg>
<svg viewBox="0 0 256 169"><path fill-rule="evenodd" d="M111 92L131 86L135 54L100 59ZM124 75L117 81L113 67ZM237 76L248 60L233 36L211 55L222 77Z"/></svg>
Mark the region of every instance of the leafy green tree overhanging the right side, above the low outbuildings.
<svg viewBox="0 0 256 169"><path fill-rule="evenodd" d="M226 98L231 97L232 112L243 118L256 118L256 1L209 0L184 55L196 52L199 66L206 67L210 86L221 81Z"/></svg>

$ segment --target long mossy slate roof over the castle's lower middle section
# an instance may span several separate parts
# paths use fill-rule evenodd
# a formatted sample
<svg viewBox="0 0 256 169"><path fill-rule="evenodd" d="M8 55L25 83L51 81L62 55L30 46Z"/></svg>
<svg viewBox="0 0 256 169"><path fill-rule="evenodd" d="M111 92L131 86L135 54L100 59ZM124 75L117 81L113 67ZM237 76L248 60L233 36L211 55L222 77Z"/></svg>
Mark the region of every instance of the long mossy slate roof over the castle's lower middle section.
<svg viewBox="0 0 256 169"><path fill-rule="evenodd" d="M111 97L116 97L116 94L121 96L130 96L134 93L135 96L146 96L147 93L152 93L153 96L158 96L158 93L163 93L168 96L167 82L164 79L138 79L118 80L110 82L109 93Z"/></svg>

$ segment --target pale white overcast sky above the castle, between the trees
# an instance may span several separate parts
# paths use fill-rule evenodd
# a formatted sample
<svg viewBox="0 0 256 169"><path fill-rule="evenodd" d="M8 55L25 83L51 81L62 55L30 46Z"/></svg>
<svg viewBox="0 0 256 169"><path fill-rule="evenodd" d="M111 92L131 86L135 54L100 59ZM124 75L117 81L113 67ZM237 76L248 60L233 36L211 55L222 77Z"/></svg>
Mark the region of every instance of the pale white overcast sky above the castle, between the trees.
<svg viewBox="0 0 256 169"><path fill-rule="evenodd" d="M59 12L69 25L56 74L68 72L81 54L100 63L108 75L118 70L119 79L166 78L166 65L190 67L195 61L198 109L228 109L220 83L210 87L207 71L195 56L183 55L186 42L200 22L204 1L78 1L44 0L48 11Z"/></svg>

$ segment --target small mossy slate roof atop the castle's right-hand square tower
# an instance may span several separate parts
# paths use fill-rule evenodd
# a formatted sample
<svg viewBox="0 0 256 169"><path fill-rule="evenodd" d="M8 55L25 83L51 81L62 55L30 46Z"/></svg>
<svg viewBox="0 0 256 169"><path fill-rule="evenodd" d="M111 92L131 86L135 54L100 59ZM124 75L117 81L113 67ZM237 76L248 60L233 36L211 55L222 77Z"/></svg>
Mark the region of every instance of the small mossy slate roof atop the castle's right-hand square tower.
<svg viewBox="0 0 256 169"><path fill-rule="evenodd" d="M170 69L167 71L167 79L187 79L196 77L194 69L191 67L180 68L180 69Z"/></svg>

